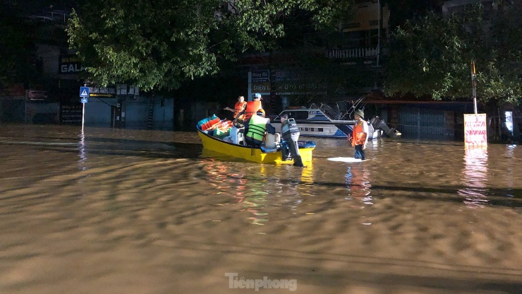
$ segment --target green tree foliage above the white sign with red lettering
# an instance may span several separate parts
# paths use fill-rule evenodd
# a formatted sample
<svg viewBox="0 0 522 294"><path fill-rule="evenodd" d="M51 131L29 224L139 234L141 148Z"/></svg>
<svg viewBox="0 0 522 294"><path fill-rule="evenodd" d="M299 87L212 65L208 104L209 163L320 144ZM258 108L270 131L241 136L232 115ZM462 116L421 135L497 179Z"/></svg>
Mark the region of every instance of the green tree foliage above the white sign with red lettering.
<svg viewBox="0 0 522 294"><path fill-rule="evenodd" d="M474 60L478 100L518 104L521 12L520 4L501 6L499 11L477 6L463 14L429 13L407 21L391 37L385 93L430 95L434 100L471 98Z"/></svg>

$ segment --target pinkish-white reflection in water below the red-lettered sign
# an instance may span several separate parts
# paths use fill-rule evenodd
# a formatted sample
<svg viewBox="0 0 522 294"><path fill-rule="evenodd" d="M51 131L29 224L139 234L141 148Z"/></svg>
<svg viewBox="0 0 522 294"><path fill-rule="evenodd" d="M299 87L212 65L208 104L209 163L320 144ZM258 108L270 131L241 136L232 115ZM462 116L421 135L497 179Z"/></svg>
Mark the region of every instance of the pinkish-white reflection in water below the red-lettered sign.
<svg viewBox="0 0 522 294"><path fill-rule="evenodd" d="M459 189L464 204L470 208L482 208L487 204L487 149L467 148L464 155L462 184Z"/></svg>

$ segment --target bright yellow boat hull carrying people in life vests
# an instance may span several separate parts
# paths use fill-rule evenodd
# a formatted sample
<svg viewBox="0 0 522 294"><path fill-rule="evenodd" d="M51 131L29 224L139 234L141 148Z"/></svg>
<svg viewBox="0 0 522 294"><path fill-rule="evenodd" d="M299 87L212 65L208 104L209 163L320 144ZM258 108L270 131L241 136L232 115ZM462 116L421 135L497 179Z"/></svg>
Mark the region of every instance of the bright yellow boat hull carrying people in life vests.
<svg viewBox="0 0 522 294"><path fill-rule="evenodd" d="M255 163L292 164L293 160L284 160L279 148L255 148L227 142L202 131L198 126L198 134L203 143L203 148L217 153L230 155L235 158L243 158ZM299 153L303 164L312 163L312 151L315 148L313 141L298 141Z"/></svg>

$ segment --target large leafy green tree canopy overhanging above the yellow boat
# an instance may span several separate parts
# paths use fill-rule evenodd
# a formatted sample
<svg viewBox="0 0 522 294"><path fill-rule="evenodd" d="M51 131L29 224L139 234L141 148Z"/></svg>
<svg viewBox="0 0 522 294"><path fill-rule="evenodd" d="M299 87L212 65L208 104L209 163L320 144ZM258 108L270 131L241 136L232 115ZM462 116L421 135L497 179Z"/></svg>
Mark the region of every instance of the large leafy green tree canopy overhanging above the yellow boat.
<svg viewBox="0 0 522 294"><path fill-rule="evenodd" d="M265 50L285 35L296 11L316 28L335 24L350 0L92 0L73 12L70 47L85 78L107 86L175 89L217 73L222 61ZM224 5L226 4L226 5Z"/></svg>

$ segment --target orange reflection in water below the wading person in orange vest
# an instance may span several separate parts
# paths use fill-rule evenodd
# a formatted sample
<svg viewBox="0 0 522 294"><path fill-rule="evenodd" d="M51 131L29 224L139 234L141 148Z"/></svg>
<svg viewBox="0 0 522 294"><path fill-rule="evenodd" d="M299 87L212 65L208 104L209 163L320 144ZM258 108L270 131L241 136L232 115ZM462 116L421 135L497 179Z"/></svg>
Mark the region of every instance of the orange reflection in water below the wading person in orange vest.
<svg viewBox="0 0 522 294"><path fill-rule="evenodd" d="M353 208L364 208L366 205L372 205L373 199L370 194L370 171L364 166L350 166L344 175L346 181L346 189L348 189L347 200L357 199L362 205L353 204Z"/></svg>

